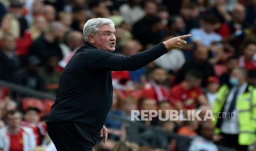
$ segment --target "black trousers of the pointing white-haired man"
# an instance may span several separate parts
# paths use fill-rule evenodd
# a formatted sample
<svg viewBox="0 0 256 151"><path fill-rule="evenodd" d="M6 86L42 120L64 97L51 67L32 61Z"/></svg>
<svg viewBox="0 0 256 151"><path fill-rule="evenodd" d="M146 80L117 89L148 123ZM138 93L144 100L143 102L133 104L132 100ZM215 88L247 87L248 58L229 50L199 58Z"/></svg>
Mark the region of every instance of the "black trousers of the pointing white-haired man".
<svg viewBox="0 0 256 151"><path fill-rule="evenodd" d="M84 123L61 121L46 123L48 135L58 151L91 151L99 133L91 132Z"/></svg>

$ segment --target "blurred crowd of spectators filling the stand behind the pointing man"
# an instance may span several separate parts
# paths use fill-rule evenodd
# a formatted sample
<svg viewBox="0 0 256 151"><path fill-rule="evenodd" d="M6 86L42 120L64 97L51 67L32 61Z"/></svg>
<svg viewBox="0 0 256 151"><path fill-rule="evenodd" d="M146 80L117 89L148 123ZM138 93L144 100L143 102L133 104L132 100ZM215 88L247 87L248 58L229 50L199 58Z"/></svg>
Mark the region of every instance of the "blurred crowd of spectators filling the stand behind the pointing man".
<svg viewBox="0 0 256 151"><path fill-rule="evenodd" d="M55 95L86 20L99 17L115 22L116 54L192 34L183 50L113 71L110 115L129 120L133 109L154 109L165 117L173 109L186 117L196 109L215 120L140 121L193 140L141 129L131 143L129 124L107 118L108 141L95 150L256 150L256 0L0 0L0 79ZM21 97L0 88L0 150L56 150L43 122L53 100Z"/></svg>

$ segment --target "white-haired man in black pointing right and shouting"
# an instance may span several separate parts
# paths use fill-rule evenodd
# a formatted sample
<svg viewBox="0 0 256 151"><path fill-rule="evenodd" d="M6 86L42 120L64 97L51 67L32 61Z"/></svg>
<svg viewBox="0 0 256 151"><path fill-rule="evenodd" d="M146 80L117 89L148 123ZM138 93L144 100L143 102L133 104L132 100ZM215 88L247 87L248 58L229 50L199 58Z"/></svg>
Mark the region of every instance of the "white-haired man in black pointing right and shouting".
<svg viewBox="0 0 256 151"><path fill-rule="evenodd" d="M113 54L115 25L105 18L88 20L84 41L61 76L55 104L47 118L47 130L57 150L92 150L99 136L107 140L104 126L113 89L111 71L137 70L171 49L182 49L184 38L168 39L141 53Z"/></svg>

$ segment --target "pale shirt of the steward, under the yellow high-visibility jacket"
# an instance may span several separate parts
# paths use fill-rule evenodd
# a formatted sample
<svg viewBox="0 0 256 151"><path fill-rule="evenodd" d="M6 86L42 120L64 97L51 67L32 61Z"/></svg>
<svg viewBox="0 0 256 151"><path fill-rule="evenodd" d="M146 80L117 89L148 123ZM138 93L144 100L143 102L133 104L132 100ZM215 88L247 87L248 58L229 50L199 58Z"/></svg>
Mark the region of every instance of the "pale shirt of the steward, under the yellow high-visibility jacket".
<svg viewBox="0 0 256 151"><path fill-rule="evenodd" d="M244 93L247 87L247 83L244 83L240 88L238 88L237 98ZM227 96L227 102L225 103L224 112L228 113L228 109L230 108L231 101L234 96L236 87L233 87L230 90L230 94ZM226 114L228 115L228 114ZM238 125L238 112L237 108L235 108L235 118L224 118L221 125L221 132L226 134L238 134L239 133L239 125Z"/></svg>

